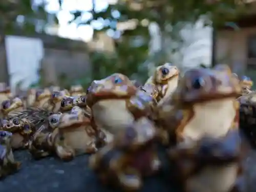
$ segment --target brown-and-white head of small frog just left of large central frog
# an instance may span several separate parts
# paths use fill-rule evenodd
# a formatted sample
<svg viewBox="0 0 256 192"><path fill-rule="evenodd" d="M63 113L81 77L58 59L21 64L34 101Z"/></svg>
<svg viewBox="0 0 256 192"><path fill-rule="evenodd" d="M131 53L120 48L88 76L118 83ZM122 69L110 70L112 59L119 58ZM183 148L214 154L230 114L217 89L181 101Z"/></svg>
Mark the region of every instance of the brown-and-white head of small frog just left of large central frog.
<svg viewBox="0 0 256 192"><path fill-rule="evenodd" d="M59 129L74 129L83 125L88 125L90 120L81 114L64 114L58 125Z"/></svg>

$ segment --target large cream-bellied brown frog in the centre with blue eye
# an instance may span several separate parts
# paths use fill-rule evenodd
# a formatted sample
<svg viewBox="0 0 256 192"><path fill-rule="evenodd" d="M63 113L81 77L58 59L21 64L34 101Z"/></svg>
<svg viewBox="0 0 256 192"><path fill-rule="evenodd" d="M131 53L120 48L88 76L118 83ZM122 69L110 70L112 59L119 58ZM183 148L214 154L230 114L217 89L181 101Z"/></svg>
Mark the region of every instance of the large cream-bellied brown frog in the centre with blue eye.
<svg viewBox="0 0 256 192"><path fill-rule="evenodd" d="M138 91L125 75L115 73L93 81L86 102L92 111L92 125L103 130L109 142L113 134L148 115L152 97Z"/></svg>

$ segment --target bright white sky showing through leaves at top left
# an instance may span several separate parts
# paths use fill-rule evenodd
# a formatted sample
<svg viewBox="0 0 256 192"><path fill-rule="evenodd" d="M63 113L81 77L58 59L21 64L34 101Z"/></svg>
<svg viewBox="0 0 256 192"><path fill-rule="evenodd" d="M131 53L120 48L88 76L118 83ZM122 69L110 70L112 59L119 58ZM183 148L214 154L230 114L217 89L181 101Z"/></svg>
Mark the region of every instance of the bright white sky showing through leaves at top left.
<svg viewBox="0 0 256 192"><path fill-rule="evenodd" d="M40 3L44 0L35 0L36 3ZM58 35L61 37L81 39L84 41L89 41L93 35L93 27L97 28L102 26L100 22L93 22L91 25L77 26L76 23L68 24L69 20L73 18L70 11L81 10L90 11L92 9L92 0L63 0L62 7L60 9L58 0L45 0L48 2L46 10L49 13L56 13L59 20L59 30ZM110 0L95 0L95 9L103 10L108 7L108 2ZM112 0L113 2L113 0ZM82 14L81 21L86 21L90 19L92 15L89 12L84 12Z"/></svg>

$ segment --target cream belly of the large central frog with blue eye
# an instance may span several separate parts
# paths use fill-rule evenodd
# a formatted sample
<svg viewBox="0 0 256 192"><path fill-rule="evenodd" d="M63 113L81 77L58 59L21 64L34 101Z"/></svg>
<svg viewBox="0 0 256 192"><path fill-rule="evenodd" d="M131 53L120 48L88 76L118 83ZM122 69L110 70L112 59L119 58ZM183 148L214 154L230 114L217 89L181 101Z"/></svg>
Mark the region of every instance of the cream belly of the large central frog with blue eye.
<svg viewBox="0 0 256 192"><path fill-rule="evenodd" d="M95 123L111 134L133 123L133 115L126 109L125 100L101 100L92 106Z"/></svg>

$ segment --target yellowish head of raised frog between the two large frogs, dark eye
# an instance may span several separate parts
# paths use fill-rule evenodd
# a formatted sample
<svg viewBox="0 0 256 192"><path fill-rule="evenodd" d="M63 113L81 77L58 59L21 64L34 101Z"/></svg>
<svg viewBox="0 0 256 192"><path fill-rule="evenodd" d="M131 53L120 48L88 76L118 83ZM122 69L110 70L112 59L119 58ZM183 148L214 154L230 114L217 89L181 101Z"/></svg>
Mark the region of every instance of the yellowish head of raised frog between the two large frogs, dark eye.
<svg viewBox="0 0 256 192"><path fill-rule="evenodd" d="M156 84L167 84L169 80L178 77L179 70L176 66L172 66L170 63L165 63L162 66L157 67L154 74L154 81Z"/></svg>

